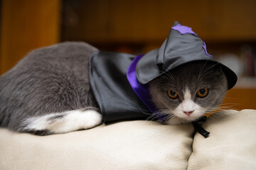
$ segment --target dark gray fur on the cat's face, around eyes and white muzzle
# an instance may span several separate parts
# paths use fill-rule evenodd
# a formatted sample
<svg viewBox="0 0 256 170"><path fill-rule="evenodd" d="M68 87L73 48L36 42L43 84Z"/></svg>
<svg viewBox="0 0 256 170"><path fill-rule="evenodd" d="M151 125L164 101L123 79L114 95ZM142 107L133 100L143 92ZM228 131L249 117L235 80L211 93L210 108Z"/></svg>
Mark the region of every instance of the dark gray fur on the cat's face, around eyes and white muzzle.
<svg viewBox="0 0 256 170"><path fill-rule="evenodd" d="M191 99L196 104L212 111L222 103L228 90L228 82L218 64L202 61L191 62L171 70L159 79L152 81L149 89L152 100L159 110L173 111L184 100L183 95L186 88L191 91ZM209 89L208 96L199 98L196 96L196 92L203 88ZM169 98L167 95L169 90L176 91L179 97Z"/></svg>

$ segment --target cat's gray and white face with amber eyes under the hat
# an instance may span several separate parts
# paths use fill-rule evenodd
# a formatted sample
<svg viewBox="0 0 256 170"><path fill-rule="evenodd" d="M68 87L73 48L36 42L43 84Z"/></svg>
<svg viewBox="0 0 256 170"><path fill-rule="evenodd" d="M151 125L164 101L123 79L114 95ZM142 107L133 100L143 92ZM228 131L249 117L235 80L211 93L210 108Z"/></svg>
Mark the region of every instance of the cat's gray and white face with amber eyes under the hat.
<svg viewBox="0 0 256 170"><path fill-rule="evenodd" d="M149 91L159 113L188 122L197 120L222 103L228 82L221 67L191 62L151 81Z"/></svg>

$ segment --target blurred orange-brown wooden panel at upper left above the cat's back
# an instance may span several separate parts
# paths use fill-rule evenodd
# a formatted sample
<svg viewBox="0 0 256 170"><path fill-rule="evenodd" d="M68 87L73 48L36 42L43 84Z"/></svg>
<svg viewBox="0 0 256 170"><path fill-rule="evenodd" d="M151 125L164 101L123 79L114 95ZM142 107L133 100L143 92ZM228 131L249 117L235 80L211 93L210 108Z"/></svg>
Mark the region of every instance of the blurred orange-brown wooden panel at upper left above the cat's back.
<svg viewBox="0 0 256 170"><path fill-rule="evenodd" d="M60 0L2 0L0 75L33 49L59 42Z"/></svg>

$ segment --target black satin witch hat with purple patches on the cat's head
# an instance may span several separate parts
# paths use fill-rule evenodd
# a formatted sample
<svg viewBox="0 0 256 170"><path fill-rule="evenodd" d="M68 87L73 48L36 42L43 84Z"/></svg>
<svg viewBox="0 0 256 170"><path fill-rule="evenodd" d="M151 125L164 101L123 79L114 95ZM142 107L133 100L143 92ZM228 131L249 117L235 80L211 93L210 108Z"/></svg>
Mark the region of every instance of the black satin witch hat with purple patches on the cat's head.
<svg viewBox="0 0 256 170"><path fill-rule="evenodd" d="M159 49L146 53L136 66L137 79L141 84L159 77L181 64L195 61L208 61L219 64L228 80L228 89L235 86L238 77L225 65L213 60L206 50L206 43L191 28L181 26L177 21L171 28L168 38Z"/></svg>

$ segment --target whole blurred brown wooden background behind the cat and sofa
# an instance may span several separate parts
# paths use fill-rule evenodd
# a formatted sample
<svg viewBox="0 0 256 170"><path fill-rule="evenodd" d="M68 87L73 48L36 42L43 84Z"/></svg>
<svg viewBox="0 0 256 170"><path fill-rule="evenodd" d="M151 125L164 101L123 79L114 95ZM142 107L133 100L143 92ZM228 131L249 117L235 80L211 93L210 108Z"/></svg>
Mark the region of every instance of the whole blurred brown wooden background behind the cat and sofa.
<svg viewBox="0 0 256 170"><path fill-rule="evenodd" d="M256 109L255 0L0 0L0 10L0 74L63 41L139 55L158 48L179 21L238 74L224 106Z"/></svg>

